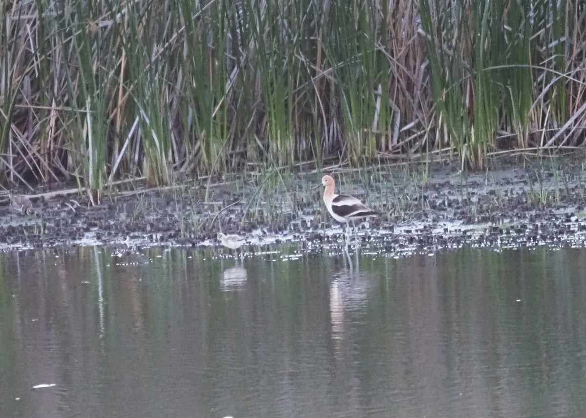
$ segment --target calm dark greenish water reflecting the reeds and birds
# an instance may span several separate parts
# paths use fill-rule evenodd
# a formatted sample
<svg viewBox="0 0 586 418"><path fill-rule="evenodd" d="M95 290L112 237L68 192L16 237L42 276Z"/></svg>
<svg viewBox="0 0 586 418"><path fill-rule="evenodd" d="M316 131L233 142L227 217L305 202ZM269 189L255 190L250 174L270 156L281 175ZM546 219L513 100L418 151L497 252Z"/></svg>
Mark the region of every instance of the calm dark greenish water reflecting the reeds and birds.
<svg viewBox="0 0 586 418"><path fill-rule="evenodd" d="M277 250L0 254L0 417L586 416L586 250Z"/></svg>

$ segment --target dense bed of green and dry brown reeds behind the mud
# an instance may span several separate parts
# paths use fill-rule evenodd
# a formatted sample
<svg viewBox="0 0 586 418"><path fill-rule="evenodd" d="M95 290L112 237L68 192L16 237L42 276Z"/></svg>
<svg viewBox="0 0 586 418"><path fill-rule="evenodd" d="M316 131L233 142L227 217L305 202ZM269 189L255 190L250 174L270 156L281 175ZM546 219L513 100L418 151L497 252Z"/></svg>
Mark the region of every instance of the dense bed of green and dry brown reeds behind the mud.
<svg viewBox="0 0 586 418"><path fill-rule="evenodd" d="M578 0L0 0L0 172L108 182L584 145Z"/></svg>

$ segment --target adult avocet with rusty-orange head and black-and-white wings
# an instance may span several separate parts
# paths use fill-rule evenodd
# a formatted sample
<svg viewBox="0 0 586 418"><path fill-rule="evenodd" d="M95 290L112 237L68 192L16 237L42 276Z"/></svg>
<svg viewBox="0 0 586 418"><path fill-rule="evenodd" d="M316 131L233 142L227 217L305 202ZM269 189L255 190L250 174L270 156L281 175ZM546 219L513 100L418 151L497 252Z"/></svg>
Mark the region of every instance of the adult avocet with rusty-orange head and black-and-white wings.
<svg viewBox="0 0 586 418"><path fill-rule="evenodd" d="M332 215L333 219L346 223L346 229L349 229L350 221L354 225L356 219L371 218L372 216L379 215L352 196L336 195L333 192L335 184L331 176L323 176L322 185L326 186L325 191L323 191L323 203L326 204L326 208L328 208L328 212ZM319 185L315 186L314 189L318 187ZM356 233L356 225L354 227Z"/></svg>

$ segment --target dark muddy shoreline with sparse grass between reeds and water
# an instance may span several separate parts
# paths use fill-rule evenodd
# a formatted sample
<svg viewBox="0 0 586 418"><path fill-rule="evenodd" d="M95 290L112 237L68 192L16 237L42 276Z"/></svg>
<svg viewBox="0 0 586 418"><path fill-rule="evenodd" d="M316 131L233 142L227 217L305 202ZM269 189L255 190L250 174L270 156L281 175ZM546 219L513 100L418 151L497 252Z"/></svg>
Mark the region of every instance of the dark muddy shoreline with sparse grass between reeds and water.
<svg viewBox="0 0 586 418"><path fill-rule="evenodd" d="M461 172L452 162L338 169L333 176L336 192L355 195L381 213L358 232L363 246L379 252L464 244L581 246L586 243L582 161L581 155L520 156L492 161L485 172ZM165 189L132 183L105 193L99 206L79 195L33 198L35 215L0 206L0 250L219 246L218 232L244 236L244 252L250 253L287 242L337 250L345 243L344 230L326 212L322 189L309 191L323 173L332 171L226 175Z"/></svg>

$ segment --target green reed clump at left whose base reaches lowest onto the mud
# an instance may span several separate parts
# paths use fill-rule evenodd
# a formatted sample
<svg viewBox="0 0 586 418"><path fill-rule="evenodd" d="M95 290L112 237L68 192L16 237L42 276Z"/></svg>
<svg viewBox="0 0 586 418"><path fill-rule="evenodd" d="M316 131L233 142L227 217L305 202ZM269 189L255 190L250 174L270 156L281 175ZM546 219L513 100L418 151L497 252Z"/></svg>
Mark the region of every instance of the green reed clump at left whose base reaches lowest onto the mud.
<svg viewBox="0 0 586 418"><path fill-rule="evenodd" d="M83 178L88 198L100 202L107 171L110 89L115 61L105 54L117 47L115 37L103 38L95 23L100 9L78 2L63 9L54 29L66 34L60 49L71 63L64 67L67 96L71 97L70 128L67 130L72 153L73 173ZM50 9L50 4L47 4Z"/></svg>

